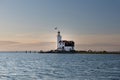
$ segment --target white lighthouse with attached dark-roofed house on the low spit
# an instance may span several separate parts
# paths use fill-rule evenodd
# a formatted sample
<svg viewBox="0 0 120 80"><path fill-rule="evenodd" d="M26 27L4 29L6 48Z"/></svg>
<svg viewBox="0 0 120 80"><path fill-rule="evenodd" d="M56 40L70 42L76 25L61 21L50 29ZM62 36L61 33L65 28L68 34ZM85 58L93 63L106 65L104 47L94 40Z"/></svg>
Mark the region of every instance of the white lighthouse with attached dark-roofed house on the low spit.
<svg viewBox="0 0 120 80"><path fill-rule="evenodd" d="M74 41L62 40L60 31L57 34L57 50L60 51L71 51L74 50Z"/></svg>

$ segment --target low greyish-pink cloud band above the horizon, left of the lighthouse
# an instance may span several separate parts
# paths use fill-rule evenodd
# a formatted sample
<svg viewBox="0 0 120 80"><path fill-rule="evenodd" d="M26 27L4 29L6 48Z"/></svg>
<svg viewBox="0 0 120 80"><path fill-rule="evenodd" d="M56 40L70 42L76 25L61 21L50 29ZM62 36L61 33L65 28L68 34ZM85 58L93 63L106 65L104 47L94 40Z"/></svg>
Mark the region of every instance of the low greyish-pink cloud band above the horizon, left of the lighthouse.
<svg viewBox="0 0 120 80"><path fill-rule="evenodd" d="M55 42L21 43L0 41L0 51L51 50L56 48Z"/></svg>

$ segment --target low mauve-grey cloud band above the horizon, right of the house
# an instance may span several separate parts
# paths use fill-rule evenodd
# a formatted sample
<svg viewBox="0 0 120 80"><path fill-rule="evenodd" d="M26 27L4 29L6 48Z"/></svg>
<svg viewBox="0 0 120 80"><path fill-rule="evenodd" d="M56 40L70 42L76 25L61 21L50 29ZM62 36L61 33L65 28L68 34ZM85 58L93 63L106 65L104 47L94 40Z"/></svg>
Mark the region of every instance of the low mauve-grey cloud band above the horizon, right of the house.
<svg viewBox="0 0 120 80"><path fill-rule="evenodd" d="M78 50L107 50L107 51L120 51L120 44L114 43L94 43L94 44L76 44Z"/></svg>

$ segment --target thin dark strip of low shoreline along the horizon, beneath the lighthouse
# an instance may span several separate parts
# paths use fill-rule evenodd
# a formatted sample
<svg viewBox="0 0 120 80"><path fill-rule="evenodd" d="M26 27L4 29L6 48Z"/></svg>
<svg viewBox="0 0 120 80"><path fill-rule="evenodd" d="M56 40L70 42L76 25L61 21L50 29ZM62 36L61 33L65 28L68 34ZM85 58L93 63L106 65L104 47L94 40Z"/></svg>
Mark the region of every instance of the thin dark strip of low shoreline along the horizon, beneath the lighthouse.
<svg viewBox="0 0 120 80"><path fill-rule="evenodd" d="M39 54L120 54L120 51L0 51L0 53L39 53Z"/></svg>

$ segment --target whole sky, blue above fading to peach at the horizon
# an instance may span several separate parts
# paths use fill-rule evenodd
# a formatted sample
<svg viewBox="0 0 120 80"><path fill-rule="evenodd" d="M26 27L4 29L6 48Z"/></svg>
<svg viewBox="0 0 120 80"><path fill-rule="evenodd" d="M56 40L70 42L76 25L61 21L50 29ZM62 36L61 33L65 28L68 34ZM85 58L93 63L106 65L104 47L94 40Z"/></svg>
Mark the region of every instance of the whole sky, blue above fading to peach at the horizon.
<svg viewBox="0 0 120 80"><path fill-rule="evenodd" d="M0 0L0 51L56 49L55 27L76 50L120 51L120 0Z"/></svg>

